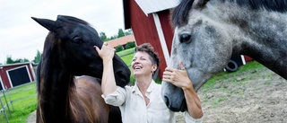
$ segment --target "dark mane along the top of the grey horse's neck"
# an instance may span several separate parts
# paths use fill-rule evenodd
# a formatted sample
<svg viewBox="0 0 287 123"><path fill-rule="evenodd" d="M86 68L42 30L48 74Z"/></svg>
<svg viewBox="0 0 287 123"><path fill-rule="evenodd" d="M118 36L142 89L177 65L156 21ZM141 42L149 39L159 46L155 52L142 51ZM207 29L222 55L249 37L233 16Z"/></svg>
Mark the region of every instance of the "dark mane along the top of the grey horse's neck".
<svg viewBox="0 0 287 123"><path fill-rule="evenodd" d="M223 0L236 3L239 5L247 5L251 9L257 10L265 8L268 11L287 12L287 0Z"/></svg>

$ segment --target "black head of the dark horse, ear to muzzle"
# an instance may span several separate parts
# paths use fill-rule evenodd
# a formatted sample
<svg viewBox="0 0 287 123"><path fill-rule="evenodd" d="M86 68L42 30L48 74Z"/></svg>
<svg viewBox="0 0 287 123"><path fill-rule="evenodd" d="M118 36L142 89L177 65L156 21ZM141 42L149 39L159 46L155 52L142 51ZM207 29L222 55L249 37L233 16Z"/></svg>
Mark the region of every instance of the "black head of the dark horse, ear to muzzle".
<svg viewBox="0 0 287 123"><path fill-rule="evenodd" d="M103 41L88 22L63 15L58 15L57 21L34 17L32 19L49 31L41 63L53 59L50 64L58 64L53 67L65 69L71 75L102 77L102 59L93 46L101 48ZM113 66L117 85L124 86L129 83L130 70L117 55L113 58Z"/></svg>

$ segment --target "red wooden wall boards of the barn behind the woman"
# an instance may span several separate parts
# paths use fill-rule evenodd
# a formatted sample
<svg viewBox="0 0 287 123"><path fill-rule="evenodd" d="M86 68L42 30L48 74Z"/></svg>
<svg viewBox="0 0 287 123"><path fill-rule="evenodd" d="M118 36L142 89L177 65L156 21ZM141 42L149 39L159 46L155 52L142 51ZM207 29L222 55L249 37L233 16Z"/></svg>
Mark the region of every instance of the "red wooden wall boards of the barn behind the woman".
<svg viewBox="0 0 287 123"><path fill-rule="evenodd" d="M159 77L161 78L164 69L167 67L163 51L161 48L161 41L159 39L158 32L153 20L152 13L146 16L142 9L135 3L135 0L124 0L124 9L125 9L125 26L126 29L132 28L135 35L135 41L137 45L141 45L145 42L152 44L156 52L158 52L161 64ZM164 38L166 40L168 50L170 52L171 42L173 38L173 31L170 26L170 11L161 11L158 13L161 28L164 33Z"/></svg>

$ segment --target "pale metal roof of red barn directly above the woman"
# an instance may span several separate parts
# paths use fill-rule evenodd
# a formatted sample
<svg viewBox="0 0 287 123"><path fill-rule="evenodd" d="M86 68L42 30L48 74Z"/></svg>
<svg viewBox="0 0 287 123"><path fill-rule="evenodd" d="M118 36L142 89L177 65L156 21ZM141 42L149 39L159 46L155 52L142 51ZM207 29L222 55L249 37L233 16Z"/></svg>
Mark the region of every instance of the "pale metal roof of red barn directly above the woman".
<svg viewBox="0 0 287 123"><path fill-rule="evenodd" d="M179 4L179 0L135 0L143 13L156 13L173 8Z"/></svg>

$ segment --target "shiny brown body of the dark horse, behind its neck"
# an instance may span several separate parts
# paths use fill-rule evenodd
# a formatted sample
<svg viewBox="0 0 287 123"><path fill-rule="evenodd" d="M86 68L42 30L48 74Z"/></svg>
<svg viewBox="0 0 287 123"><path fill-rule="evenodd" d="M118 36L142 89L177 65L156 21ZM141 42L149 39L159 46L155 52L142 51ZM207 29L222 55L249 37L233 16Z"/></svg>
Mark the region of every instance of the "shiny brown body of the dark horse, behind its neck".
<svg viewBox="0 0 287 123"><path fill-rule="evenodd" d="M91 76L82 76L74 82L75 89L69 92L70 115L74 122L108 123L110 106L101 98L100 82ZM110 119L121 122L120 112L117 115L117 119Z"/></svg>

